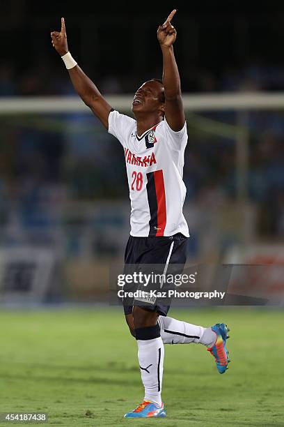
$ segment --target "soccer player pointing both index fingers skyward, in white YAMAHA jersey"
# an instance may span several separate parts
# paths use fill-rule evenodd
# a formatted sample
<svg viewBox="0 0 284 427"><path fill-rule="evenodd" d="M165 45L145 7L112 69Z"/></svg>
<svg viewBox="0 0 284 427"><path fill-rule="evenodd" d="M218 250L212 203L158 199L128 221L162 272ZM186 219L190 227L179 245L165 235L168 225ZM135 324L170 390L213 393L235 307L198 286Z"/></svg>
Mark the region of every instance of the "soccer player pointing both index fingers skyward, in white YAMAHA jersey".
<svg viewBox="0 0 284 427"><path fill-rule="evenodd" d="M68 69L74 89L105 128L122 144L131 200L131 232L125 264L184 265L189 230L182 213L186 188L182 181L187 126L182 106L180 76L173 43L177 36L171 20L159 26L157 38L163 57L163 80L144 82L132 103L135 119L111 108L95 84L72 58L64 18L61 31L52 31L52 45ZM228 368L227 327L223 323L200 327L167 316L168 306L124 306L125 318L137 340L143 402L127 418L165 417L161 401L164 344L200 343L216 361L219 373Z"/></svg>

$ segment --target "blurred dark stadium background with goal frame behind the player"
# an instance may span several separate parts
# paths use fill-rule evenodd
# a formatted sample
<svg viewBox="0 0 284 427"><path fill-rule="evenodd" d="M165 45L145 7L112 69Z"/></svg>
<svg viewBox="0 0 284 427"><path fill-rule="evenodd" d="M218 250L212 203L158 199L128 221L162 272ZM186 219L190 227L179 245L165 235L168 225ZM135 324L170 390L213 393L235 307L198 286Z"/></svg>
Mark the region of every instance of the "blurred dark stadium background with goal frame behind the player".
<svg viewBox="0 0 284 427"><path fill-rule="evenodd" d="M284 8L175 7L189 263L281 264ZM1 304L107 299L109 266L123 261L129 234L123 150L74 93L50 31L64 15L74 58L113 107L131 114L136 88L161 77L155 33L171 8L2 6ZM276 281L271 289L283 294Z"/></svg>

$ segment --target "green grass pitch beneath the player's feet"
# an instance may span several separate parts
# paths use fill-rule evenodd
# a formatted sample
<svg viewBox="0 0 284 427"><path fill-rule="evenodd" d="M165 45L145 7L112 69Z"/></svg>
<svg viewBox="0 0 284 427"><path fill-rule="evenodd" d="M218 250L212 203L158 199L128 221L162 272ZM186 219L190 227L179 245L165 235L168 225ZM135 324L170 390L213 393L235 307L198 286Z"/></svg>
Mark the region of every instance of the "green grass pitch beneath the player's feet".
<svg viewBox="0 0 284 427"><path fill-rule="evenodd" d="M228 323L232 362L220 375L203 345L166 345L166 419L123 419L143 389L136 342L120 310L109 308L2 311L0 412L47 412L55 426L284 426L283 312L169 315L203 326Z"/></svg>

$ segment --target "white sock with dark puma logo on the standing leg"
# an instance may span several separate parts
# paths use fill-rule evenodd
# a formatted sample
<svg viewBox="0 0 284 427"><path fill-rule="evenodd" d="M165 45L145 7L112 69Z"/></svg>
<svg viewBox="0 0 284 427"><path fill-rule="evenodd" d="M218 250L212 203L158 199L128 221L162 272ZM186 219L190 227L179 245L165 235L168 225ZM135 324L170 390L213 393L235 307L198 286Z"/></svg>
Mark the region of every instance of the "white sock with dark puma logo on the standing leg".
<svg viewBox="0 0 284 427"><path fill-rule="evenodd" d="M161 382L164 369L164 343L159 338L137 340L141 379L145 387L144 400L161 406Z"/></svg>

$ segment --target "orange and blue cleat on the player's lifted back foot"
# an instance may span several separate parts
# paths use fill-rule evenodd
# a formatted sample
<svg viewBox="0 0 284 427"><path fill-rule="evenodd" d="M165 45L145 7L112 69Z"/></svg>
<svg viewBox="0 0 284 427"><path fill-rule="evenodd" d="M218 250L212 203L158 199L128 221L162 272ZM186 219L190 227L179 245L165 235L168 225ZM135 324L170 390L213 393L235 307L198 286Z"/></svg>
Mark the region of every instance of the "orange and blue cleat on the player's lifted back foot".
<svg viewBox="0 0 284 427"><path fill-rule="evenodd" d="M228 329L226 324L216 323L211 327L212 331L216 334L216 342L212 347L207 348L207 351L214 356L217 369L219 373L224 373L228 369L228 350L226 349L226 340L229 338Z"/></svg>

